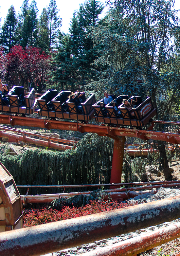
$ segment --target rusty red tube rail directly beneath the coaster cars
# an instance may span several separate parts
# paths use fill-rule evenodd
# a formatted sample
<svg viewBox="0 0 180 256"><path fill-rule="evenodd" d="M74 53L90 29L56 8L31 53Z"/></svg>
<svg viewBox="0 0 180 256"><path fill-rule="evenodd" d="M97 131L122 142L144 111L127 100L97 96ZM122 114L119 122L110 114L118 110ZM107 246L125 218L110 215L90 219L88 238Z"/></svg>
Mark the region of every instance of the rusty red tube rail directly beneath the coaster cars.
<svg viewBox="0 0 180 256"><path fill-rule="evenodd" d="M30 118L30 117L18 117L18 116L9 116L9 115L0 115L0 123L20 125L20 126L30 126L30 127L41 127L46 129L60 129L60 130L69 130L69 131L79 131L97 133L101 136L108 136L116 138L117 136L128 136L128 137L137 137L144 140L156 139L163 140L174 144L180 143L180 134L175 133L166 133L158 131L149 131L149 130L137 130L133 128L124 128L124 127L109 127L104 125L96 124L86 124L86 123L77 123L77 122L67 122L61 120L47 120L41 118ZM178 124L179 125L179 124Z"/></svg>

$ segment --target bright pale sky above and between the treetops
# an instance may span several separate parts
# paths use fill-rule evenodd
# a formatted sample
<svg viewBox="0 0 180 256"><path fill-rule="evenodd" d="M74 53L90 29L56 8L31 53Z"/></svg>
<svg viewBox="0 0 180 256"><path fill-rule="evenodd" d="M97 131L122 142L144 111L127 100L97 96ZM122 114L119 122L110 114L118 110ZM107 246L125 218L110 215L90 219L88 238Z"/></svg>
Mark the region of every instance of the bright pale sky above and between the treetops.
<svg viewBox="0 0 180 256"><path fill-rule="evenodd" d="M61 31L64 33L69 32L70 22L71 18L73 17L74 10L78 10L80 7L80 4L82 4L85 0L56 0L57 8L59 9L59 15L62 18L62 27ZM105 2L105 0L101 0L102 3ZM7 16L8 9L11 5L14 6L14 9L16 10L16 14L18 14L18 11L20 11L20 7L22 6L23 0L8 0L7 2L5 0L1 0L0 2L0 18L1 18L1 27L4 23L4 19ZM31 3L31 0L29 0L29 4ZM37 8L39 10L39 15L41 15L42 9L46 8L46 6L49 5L49 0L36 0ZM180 9L180 1L175 0L175 9ZM100 18L102 18L107 11L107 8L104 9L103 13ZM180 11L179 15L180 17Z"/></svg>

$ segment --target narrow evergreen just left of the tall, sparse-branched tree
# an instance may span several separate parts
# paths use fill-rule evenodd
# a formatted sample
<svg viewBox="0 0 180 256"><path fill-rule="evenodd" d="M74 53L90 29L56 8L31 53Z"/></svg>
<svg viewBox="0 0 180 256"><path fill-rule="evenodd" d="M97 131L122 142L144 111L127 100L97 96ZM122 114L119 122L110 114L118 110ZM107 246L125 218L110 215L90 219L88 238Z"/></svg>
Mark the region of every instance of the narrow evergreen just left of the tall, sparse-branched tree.
<svg viewBox="0 0 180 256"><path fill-rule="evenodd" d="M44 8L42 10L39 22L38 22L38 47L42 50L49 48L49 28L48 28L48 12Z"/></svg>

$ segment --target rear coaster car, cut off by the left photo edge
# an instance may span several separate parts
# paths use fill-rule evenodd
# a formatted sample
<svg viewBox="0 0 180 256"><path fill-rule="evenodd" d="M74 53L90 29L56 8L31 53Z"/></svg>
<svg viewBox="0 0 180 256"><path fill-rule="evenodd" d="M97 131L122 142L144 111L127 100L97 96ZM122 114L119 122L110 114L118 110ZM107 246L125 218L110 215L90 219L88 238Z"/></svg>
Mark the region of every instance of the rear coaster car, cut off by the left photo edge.
<svg viewBox="0 0 180 256"><path fill-rule="evenodd" d="M27 96L22 86L13 86L7 97L0 95L0 111L3 112L16 113L18 116L33 114L36 105L34 88Z"/></svg>

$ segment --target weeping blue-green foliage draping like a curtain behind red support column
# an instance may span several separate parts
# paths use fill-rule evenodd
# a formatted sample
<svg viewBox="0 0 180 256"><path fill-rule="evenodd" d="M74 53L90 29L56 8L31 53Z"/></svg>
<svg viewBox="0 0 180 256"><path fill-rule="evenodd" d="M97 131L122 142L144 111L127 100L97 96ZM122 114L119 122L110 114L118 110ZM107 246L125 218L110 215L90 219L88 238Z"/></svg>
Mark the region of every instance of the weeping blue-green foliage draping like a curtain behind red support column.
<svg viewBox="0 0 180 256"><path fill-rule="evenodd" d="M0 161L12 174L17 185L102 184L110 182L113 146L113 139L89 133L77 143L76 149L63 152L29 149L23 154L13 156L8 155L7 144L0 149ZM145 163L143 161L142 157L131 159L125 154L122 181L138 181L135 173L140 173L149 160ZM32 189L30 193L62 191ZM25 193L26 190L20 192Z"/></svg>

